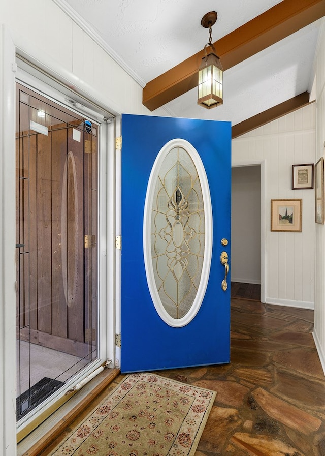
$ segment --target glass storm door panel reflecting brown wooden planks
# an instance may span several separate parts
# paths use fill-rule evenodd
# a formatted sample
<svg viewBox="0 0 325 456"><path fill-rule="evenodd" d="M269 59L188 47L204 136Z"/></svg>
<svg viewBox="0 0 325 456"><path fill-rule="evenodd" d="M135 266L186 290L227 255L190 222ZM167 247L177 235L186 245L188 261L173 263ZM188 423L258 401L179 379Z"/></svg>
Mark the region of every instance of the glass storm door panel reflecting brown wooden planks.
<svg viewBox="0 0 325 456"><path fill-rule="evenodd" d="M98 356L97 133L17 84L17 421Z"/></svg>

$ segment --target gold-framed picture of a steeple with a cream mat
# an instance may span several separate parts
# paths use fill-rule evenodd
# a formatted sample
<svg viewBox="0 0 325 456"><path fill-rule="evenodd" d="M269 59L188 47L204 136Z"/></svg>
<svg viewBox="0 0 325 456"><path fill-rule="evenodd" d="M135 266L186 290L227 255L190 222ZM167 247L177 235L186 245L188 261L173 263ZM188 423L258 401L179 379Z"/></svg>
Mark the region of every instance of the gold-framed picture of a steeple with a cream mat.
<svg viewBox="0 0 325 456"><path fill-rule="evenodd" d="M271 231L301 232L302 199L271 199Z"/></svg>

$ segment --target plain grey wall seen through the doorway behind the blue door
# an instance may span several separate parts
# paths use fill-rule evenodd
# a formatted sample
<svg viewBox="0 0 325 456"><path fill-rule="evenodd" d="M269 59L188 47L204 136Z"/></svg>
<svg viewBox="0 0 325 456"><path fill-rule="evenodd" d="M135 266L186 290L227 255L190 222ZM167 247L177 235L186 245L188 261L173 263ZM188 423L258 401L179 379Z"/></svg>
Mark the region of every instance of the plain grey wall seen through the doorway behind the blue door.
<svg viewBox="0 0 325 456"><path fill-rule="evenodd" d="M232 168L231 280L261 283L261 166Z"/></svg>

